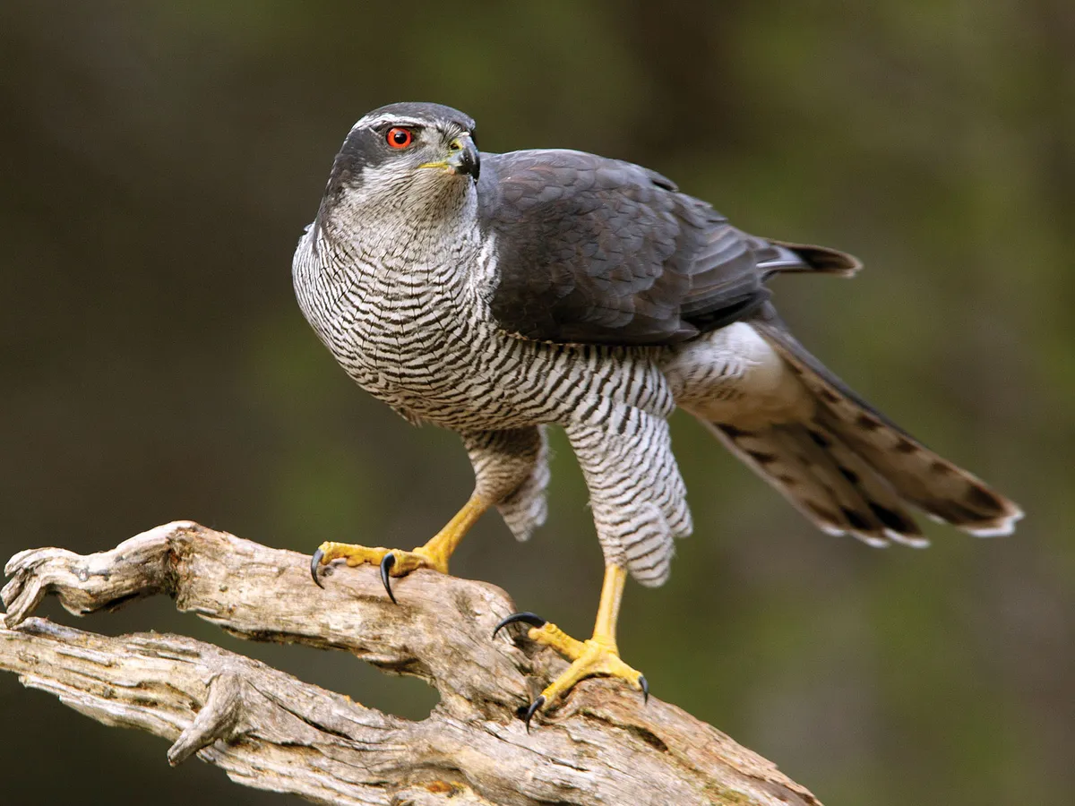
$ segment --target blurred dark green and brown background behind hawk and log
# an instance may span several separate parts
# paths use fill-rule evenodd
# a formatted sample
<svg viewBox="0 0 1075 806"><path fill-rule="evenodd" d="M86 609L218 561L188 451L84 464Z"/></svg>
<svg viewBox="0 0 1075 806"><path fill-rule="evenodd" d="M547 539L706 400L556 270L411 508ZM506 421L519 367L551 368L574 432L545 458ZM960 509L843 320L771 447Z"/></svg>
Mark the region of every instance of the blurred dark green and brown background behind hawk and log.
<svg viewBox="0 0 1075 806"><path fill-rule="evenodd" d="M1075 788L1075 5L0 4L0 555L94 551L178 518L271 546L424 542L470 491L452 434L355 387L292 299L295 243L350 125L458 106L487 150L645 163L758 234L862 257L791 277L799 337L993 481L1013 538L927 551L816 532L688 418L696 534L630 586L658 696L828 806L1058 803ZM588 634L601 556L556 437L551 517L489 517L455 573ZM311 595L316 591L311 587ZM397 714L432 692L348 657L233 641L171 602L78 621L192 634ZM5 801L284 797L0 676ZM44 802L48 802L48 792ZM20 791L25 790L25 791ZM1065 796L1063 793L1067 792ZM95 800L95 796L97 800Z"/></svg>

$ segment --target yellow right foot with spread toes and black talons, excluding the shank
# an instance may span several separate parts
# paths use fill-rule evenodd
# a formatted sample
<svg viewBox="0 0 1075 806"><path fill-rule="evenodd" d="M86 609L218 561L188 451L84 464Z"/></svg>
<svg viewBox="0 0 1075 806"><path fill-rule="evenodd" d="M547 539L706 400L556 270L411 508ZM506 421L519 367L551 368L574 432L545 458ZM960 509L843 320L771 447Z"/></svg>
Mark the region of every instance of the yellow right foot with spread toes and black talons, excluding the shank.
<svg viewBox="0 0 1075 806"><path fill-rule="evenodd" d="M571 661L568 670L553 680L525 711L519 709L520 716L526 719L527 731L530 730L530 720L534 714L546 704L550 704L557 697L567 694L579 680L587 677L618 677L621 680L627 680L632 689L641 691L644 701L649 700L649 685L646 682L646 678L641 672L631 668L620 660L615 639L594 634L589 641L577 641L556 624L545 621L532 613L516 613L508 616L497 624L497 630L492 633L493 636L501 628L516 621L531 625L528 632L531 641L553 647Z"/></svg>

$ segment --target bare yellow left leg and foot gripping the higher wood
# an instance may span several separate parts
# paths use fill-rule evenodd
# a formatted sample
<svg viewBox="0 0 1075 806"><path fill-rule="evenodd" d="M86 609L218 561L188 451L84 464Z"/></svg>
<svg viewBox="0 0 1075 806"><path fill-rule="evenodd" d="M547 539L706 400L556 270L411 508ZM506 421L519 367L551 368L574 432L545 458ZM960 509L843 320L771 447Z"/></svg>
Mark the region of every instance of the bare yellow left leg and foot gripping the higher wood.
<svg viewBox="0 0 1075 806"><path fill-rule="evenodd" d="M429 539L424 546L418 546L411 551L398 548L368 548L366 546L355 546L349 543L322 543L314 552L310 564L314 581L321 585L317 575L317 570L333 560L344 559L350 566L370 563L381 566L381 578L385 584L388 595L395 602L396 596L388 582L389 575L403 576L410 574L415 568L433 568L442 574L448 573L448 558L456 550L463 535L470 531L482 514L489 508L485 499L474 493L470 496L462 509L456 513L455 517L447 524ZM324 587L324 586L321 586Z"/></svg>

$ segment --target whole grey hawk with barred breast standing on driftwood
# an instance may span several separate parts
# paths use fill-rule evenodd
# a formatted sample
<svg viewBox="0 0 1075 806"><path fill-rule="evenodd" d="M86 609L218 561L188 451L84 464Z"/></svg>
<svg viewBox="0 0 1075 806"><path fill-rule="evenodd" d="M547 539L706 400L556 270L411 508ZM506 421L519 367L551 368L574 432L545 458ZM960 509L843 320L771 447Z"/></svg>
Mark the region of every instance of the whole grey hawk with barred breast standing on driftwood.
<svg viewBox="0 0 1075 806"><path fill-rule="evenodd" d="M567 149L482 154L474 120L433 103L362 117L299 242L306 319L359 386L414 423L459 433L470 500L411 551L325 543L311 565L447 572L496 506L519 539L545 519L545 431L563 428L589 489L605 576L592 637L533 614L532 639L572 661L528 708L584 677L620 677L627 576L669 576L691 531L668 417L684 408L815 526L872 546L924 544L908 507L974 535L1012 531L1008 499L862 400L788 331L766 282L847 277L854 257L733 227L640 165ZM499 629L499 628L498 628Z"/></svg>

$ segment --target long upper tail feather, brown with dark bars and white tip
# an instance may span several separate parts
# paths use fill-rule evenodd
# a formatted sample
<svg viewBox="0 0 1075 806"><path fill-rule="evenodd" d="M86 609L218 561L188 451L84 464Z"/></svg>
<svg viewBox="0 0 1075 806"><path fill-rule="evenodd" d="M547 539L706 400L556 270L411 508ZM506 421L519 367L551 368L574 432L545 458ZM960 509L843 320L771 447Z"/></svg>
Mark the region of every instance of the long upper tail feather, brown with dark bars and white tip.
<svg viewBox="0 0 1075 806"><path fill-rule="evenodd" d="M874 409L807 352L775 315L751 323L818 401L814 422L821 433L835 435L837 444L859 457L899 498L979 537L1015 529L1022 510L1013 501Z"/></svg>

